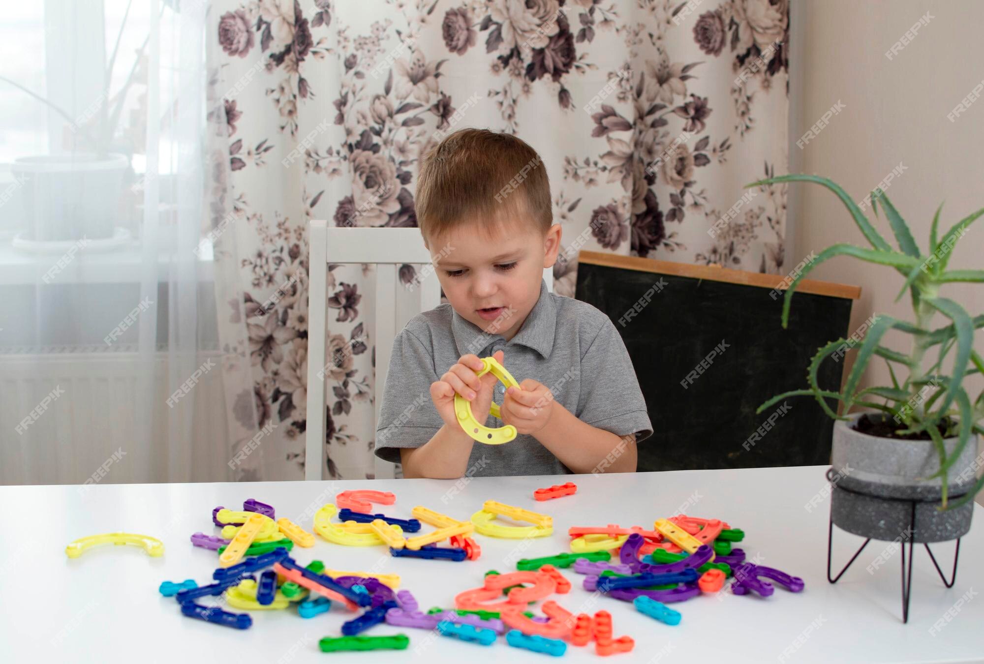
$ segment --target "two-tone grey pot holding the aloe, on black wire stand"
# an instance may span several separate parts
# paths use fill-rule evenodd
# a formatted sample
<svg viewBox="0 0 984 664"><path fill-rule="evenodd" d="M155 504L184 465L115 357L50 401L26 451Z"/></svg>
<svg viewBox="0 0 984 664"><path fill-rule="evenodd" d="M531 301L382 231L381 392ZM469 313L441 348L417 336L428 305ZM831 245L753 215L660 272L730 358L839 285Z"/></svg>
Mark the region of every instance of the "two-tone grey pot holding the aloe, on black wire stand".
<svg viewBox="0 0 984 664"><path fill-rule="evenodd" d="M862 413L833 425L831 451L830 516L847 532L873 539L914 542L944 542L962 537L970 530L973 502L962 508L940 512L942 479L929 477L940 468L932 441L904 441L869 436L853 429ZM944 441L953 452L956 438ZM950 500L964 495L975 480L976 436L967 442L948 472ZM912 504L916 522L908 532Z"/></svg>

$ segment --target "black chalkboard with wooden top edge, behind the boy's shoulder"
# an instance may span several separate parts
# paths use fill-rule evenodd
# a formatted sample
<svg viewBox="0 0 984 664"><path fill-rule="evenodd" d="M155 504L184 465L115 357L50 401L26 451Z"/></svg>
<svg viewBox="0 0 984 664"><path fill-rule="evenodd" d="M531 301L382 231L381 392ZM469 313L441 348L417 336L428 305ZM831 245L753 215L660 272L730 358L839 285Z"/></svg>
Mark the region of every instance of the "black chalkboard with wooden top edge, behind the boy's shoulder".
<svg viewBox="0 0 984 664"><path fill-rule="evenodd" d="M783 330L782 295L773 292L781 279L582 252L575 296L615 324L646 397L653 435L639 446L639 470L830 462L833 421L812 396L755 410L807 387L817 349L849 335L860 289L811 281L815 292L797 289ZM837 392L843 365L826 360L821 387Z"/></svg>

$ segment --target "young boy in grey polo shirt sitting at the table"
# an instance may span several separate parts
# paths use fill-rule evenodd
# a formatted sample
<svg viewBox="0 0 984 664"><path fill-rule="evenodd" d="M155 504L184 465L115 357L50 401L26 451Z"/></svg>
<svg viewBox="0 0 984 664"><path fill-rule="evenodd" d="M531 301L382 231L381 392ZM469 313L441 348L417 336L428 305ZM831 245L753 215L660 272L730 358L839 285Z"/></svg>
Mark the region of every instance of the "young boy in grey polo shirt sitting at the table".
<svg viewBox="0 0 984 664"><path fill-rule="evenodd" d="M635 471L652 425L625 344L607 316L543 281L561 226L536 151L509 134L455 132L424 158L415 205L449 304L394 340L376 453L401 461L405 477ZM475 376L490 355L520 390ZM456 393L485 426L515 426L516 439L474 442ZM494 394L502 419L488 414Z"/></svg>

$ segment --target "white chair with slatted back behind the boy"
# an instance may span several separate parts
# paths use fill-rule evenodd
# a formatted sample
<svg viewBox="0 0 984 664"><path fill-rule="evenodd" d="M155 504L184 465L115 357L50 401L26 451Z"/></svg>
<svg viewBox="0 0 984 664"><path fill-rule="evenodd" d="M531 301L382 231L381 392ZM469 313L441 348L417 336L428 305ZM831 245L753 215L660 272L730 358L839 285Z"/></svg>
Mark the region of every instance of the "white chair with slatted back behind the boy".
<svg viewBox="0 0 984 664"><path fill-rule="evenodd" d="M431 264L430 252L424 247L418 228L339 228L317 219L310 224L310 290L308 303L308 385L306 462L304 479L323 479L325 468L325 388L326 381L318 373L326 366L325 343L328 308L328 265L369 264L376 266L375 334L369 332L368 345L376 346L376 379L373 382L375 403L374 422L379 422L383 388L390 368L390 355L397 332L413 315L428 311L441 303L441 284L436 274L423 278L417 290L419 309L398 316L397 293L407 292L400 284L397 271L400 265L417 267ZM428 271L433 270L427 268ZM543 271L547 288L553 290L553 272ZM365 300L363 300L365 302ZM405 309L405 308L404 308ZM367 326L368 328L368 326ZM372 436L376 432L373 427ZM376 477L392 478L395 464L375 457Z"/></svg>

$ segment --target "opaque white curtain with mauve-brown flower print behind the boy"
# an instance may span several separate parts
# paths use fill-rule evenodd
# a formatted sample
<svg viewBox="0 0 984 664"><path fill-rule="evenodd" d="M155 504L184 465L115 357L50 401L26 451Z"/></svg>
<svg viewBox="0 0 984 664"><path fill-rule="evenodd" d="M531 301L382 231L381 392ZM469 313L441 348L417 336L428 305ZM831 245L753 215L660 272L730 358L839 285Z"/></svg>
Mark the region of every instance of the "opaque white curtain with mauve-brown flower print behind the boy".
<svg viewBox="0 0 984 664"><path fill-rule="evenodd" d="M248 477L302 477L309 306L329 308L339 358L327 472L372 476L372 271L336 267L329 301L309 305L306 224L415 226L420 157L455 129L514 133L542 155L562 295L580 249L781 272L785 190L744 185L786 170L788 13L788 0L216 0L213 224L231 213L243 287L222 315L246 327L252 406L276 427Z"/></svg>

